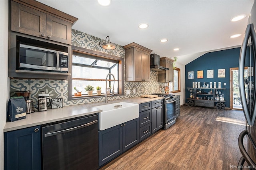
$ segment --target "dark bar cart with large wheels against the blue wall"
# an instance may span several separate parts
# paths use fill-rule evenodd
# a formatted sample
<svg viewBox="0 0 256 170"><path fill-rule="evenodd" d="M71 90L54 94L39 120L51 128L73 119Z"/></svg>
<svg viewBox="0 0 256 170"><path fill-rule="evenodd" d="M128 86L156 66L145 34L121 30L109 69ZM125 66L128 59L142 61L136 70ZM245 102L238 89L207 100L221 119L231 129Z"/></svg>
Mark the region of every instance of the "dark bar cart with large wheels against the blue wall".
<svg viewBox="0 0 256 170"><path fill-rule="evenodd" d="M187 87L188 91L190 91L189 93L195 97L195 98L186 98L187 100L187 105L188 106L203 106L203 107L216 107L216 109L219 110L224 110L225 109L225 102L226 101L220 101L220 100L216 100L215 99L215 92L217 91L222 91L222 90L226 90L226 88L194 88L194 87ZM207 90L210 91L212 90L212 94L208 94L205 92L201 92L201 93L197 93L197 91L199 91L199 89L201 89L202 91ZM203 96L207 96L208 97L212 97L213 100L208 100L208 99L196 99L196 97L203 97Z"/></svg>

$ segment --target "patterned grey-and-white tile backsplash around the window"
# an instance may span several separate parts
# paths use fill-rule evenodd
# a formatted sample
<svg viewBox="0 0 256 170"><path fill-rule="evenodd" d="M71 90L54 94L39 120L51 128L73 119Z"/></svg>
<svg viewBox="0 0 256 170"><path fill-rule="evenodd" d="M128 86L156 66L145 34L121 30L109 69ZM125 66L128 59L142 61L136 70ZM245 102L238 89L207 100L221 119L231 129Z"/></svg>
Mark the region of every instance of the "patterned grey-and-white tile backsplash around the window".
<svg viewBox="0 0 256 170"><path fill-rule="evenodd" d="M90 36L79 32L77 30L72 30L72 45L79 47L92 49L95 51L100 51L102 53L108 53L110 55L115 55L124 58L124 48L121 45L116 44L116 49L106 50L99 47L99 42L104 41L100 38ZM140 95L149 95L152 93L161 93L161 87L165 83L157 82L157 72L150 71L150 82L124 82L124 95L109 97L109 100L124 99L130 97L139 97ZM10 80L10 96L15 96L15 91L27 91L31 90L30 99L32 99L34 105L36 106L38 94L41 91L48 93L51 99L63 98L63 106L78 105L84 103L94 103L104 101L104 97L96 97L90 99L74 99L68 100L68 81L67 80L52 80L52 79L11 79ZM130 95L126 94L126 90L130 90Z"/></svg>

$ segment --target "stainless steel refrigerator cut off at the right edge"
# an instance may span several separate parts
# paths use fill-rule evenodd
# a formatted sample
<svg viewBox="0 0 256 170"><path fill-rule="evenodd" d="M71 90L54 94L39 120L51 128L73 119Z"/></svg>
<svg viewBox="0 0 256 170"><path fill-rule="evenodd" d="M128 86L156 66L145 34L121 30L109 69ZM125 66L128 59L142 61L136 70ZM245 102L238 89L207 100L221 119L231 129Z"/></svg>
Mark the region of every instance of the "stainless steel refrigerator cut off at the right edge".
<svg viewBox="0 0 256 170"><path fill-rule="evenodd" d="M244 40L240 50L239 60L239 90L246 128L238 137L238 145L242 158L238 163L238 169L256 169L256 4L254 3L248 25L245 31ZM247 73L244 73L247 69ZM244 143L243 143L244 141ZM246 163L245 163L246 162Z"/></svg>

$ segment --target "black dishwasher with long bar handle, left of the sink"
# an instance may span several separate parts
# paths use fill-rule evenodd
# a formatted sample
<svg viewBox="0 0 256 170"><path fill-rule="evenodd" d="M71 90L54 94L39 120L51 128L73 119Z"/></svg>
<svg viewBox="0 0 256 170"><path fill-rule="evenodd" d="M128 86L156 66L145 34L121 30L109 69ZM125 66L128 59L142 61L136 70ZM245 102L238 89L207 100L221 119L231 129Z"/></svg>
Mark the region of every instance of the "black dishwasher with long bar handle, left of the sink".
<svg viewBox="0 0 256 170"><path fill-rule="evenodd" d="M42 126L44 170L94 170L98 164L98 115Z"/></svg>

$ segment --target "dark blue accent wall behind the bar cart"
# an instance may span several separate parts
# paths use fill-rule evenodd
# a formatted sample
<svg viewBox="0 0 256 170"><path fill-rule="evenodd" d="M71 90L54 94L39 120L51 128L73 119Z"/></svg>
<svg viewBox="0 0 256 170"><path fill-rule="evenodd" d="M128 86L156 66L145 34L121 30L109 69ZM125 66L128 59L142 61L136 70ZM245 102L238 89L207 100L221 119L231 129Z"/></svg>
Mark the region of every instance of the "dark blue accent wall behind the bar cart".
<svg viewBox="0 0 256 170"><path fill-rule="evenodd" d="M230 107L230 72L229 69L232 67L238 67L239 64L240 47L233 49L226 49L222 51L214 51L206 53L201 57L198 57L194 61L188 63L185 66L186 73L186 87L192 87L192 82L216 82L218 88L218 82L221 82L221 87L226 88L222 90L225 98L226 107ZM207 70L214 70L214 78L207 78ZM225 70L225 78L218 78L218 69ZM197 71L204 71L204 78L197 79ZM188 71L194 71L194 79L188 79ZM226 83L226 86L224 86ZM202 84L201 84L202 86ZM208 92L208 91L207 91ZM186 98L189 98L189 91L186 90Z"/></svg>

